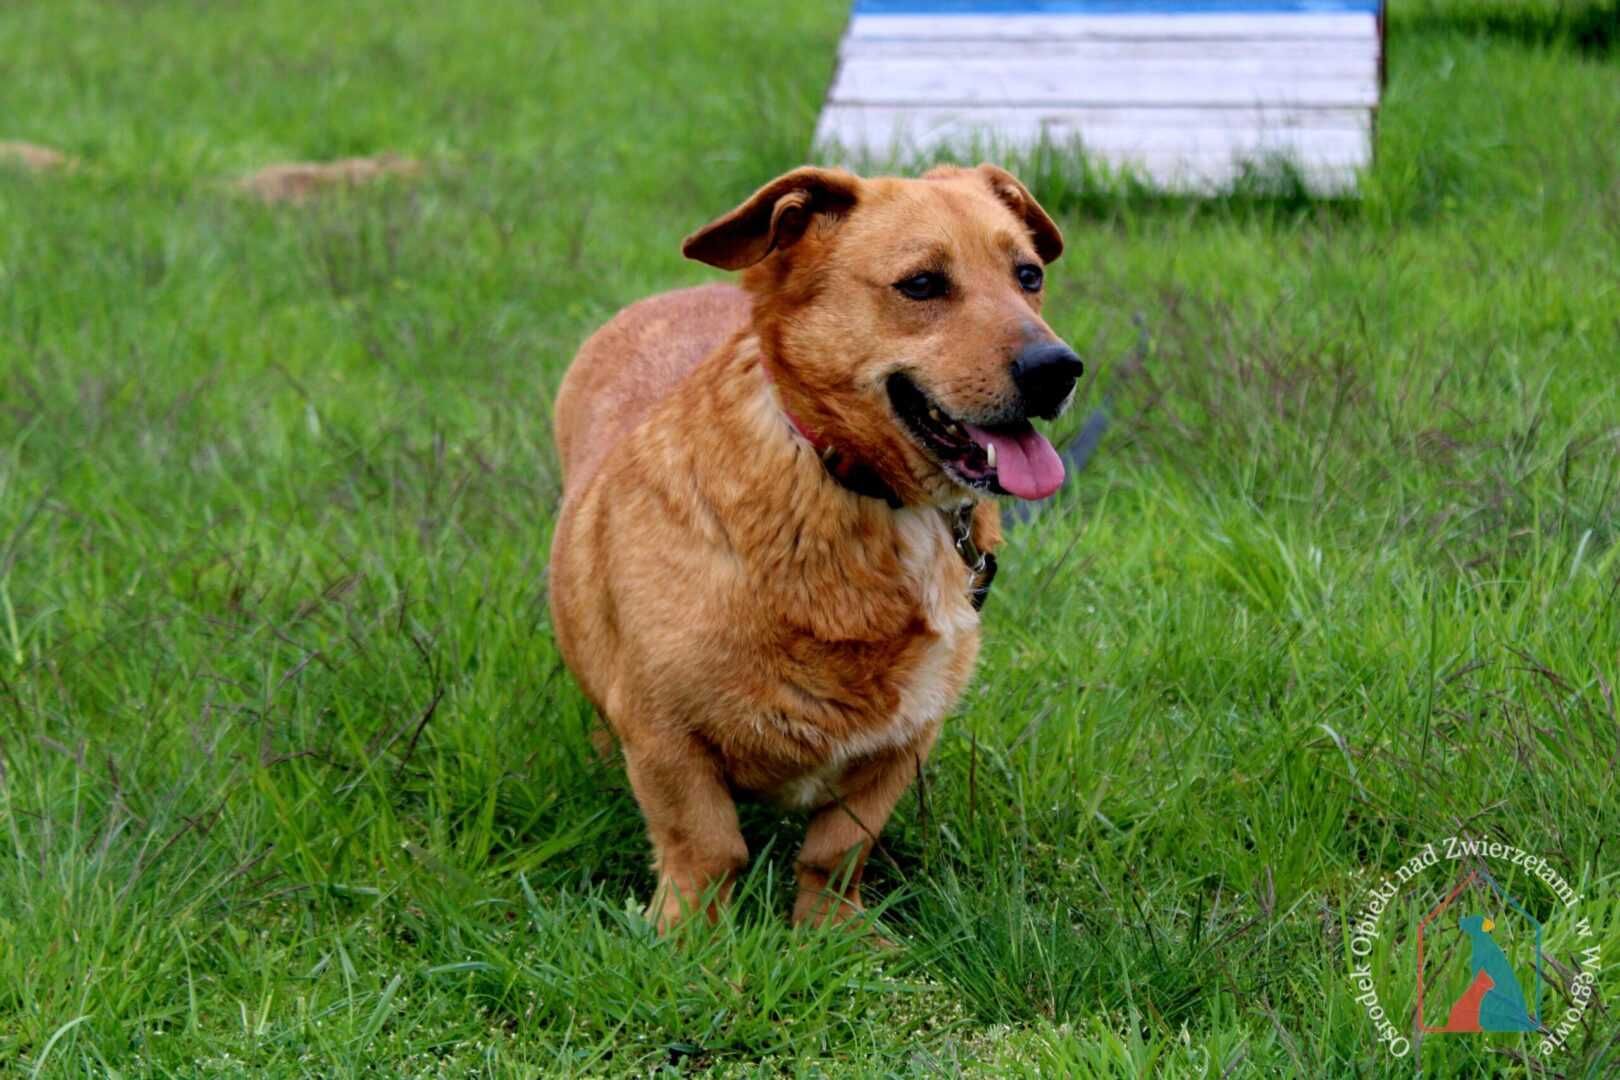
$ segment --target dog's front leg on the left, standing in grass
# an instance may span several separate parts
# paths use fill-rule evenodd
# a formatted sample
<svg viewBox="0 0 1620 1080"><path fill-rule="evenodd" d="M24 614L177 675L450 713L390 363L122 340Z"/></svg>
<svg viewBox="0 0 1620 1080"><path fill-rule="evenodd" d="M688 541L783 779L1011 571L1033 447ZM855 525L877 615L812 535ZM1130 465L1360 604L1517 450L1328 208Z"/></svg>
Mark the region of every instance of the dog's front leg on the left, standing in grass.
<svg viewBox="0 0 1620 1080"><path fill-rule="evenodd" d="M713 889L705 908L713 921L718 905L731 895L737 871L748 861L719 761L690 738L625 742L624 755L658 873L646 916L656 918L658 931L666 933Z"/></svg>

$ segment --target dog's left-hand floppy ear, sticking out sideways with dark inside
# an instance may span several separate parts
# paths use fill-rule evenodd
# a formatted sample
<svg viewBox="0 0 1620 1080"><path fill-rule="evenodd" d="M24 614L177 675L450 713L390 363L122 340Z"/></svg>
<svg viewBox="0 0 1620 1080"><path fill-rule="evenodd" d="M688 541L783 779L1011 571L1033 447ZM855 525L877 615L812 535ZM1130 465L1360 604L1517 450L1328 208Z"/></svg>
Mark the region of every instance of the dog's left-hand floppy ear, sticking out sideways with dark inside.
<svg viewBox="0 0 1620 1080"><path fill-rule="evenodd" d="M723 270L744 270L799 240L816 214L847 210L859 186L860 178L842 168L795 168L687 236L680 251Z"/></svg>

